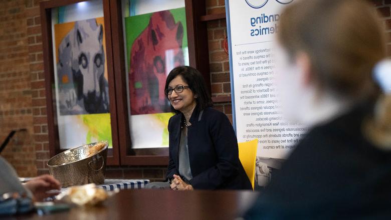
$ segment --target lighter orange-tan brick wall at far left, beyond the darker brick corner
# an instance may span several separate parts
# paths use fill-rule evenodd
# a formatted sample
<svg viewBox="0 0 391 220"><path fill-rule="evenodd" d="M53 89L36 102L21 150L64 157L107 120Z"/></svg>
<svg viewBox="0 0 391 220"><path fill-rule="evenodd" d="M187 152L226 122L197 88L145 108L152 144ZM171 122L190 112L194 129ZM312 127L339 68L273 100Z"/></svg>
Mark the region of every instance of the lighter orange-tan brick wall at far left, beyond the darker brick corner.
<svg viewBox="0 0 391 220"><path fill-rule="evenodd" d="M37 174L33 140L29 40L24 0L2 1L0 7L0 142L15 134L4 156L21 176Z"/></svg>

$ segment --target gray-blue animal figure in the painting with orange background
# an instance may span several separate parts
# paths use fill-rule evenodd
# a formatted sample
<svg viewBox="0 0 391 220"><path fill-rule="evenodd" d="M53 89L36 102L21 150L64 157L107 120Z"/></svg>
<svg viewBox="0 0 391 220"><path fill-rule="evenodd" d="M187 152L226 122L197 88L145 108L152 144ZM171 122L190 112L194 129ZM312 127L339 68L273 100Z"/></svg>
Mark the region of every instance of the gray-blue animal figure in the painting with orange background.
<svg viewBox="0 0 391 220"><path fill-rule="evenodd" d="M96 19L75 22L58 49L60 115L109 112L103 27Z"/></svg>

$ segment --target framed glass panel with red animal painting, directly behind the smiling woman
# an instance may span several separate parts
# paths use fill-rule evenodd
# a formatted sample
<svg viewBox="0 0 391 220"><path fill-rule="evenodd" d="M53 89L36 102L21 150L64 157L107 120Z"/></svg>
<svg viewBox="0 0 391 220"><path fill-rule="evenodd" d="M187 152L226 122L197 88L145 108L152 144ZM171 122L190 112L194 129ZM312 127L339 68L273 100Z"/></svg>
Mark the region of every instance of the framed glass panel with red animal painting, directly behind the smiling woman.
<svg viewBox="0 0 391 220"><path fill-rule="evenodd" d="M122 4L129 153L166 154L158 149L168 147L167 124L172 116L164 84L174 67L188 65L184 1L124 0Z"/></svg>

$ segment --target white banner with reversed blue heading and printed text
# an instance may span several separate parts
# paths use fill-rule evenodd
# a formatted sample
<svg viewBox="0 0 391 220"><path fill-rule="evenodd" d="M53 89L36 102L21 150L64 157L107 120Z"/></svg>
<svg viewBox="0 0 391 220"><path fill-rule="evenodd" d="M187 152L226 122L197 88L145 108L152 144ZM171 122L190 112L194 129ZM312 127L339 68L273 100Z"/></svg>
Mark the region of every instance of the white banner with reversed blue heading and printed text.
<svg viewBox="0 0 391 220"><path fill-rule="evenodd" d="M239 142L258 138L261 157L286 158L306 130L283 120L274 85L274 38L292 1L226 0L236 134Z"/></svg>

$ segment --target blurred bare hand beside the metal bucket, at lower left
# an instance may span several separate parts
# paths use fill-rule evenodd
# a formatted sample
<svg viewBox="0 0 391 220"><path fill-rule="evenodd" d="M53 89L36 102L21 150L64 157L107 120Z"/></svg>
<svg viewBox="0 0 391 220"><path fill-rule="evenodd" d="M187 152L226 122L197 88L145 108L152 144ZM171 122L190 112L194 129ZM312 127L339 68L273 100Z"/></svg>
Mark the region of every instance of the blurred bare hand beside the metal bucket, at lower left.
<svg viewBox="0 0 391 220"><path fill-rule="evenodd" d="M25 184L25 187L33 193L34 200L42 201L44 198L58 194L47 193L47 191L52 189L61 189L61 184L53 176L49 174L44 174L32 178Z"/></svg>

